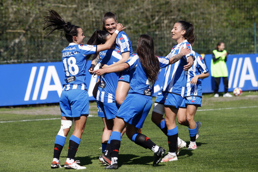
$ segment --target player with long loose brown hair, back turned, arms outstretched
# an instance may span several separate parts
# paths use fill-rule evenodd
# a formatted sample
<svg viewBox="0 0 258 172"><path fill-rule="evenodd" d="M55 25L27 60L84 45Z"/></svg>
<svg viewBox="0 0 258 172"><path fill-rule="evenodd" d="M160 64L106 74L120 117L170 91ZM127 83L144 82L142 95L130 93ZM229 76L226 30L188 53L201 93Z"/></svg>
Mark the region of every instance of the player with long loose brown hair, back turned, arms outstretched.
<svg viewBox="0 0 258 172"><path fill-rule="evenodd" d="M189 53L185 49L184 52ZM153 150L154 161L156 166L165 155L165 149L157 146L147 136L138 133L138 128L142 128L143 122L150 111L152 105L153 87L157 80L161 67L173 64L176 59L183 56L183 52L178 56L168 58L159 58L155 56L154 42L151 36L141 35L137 42L136 54L133 54L125 63L113 67L98 69L94 71L97 75L104 73L118 72L130 69L130 91L125 101L121 105L116 118L114 127L109 138L109 147L111 164L105 169L118 169L118 152L121 143L121 132L126 127L126 135L136 144ZM109 157L107 155L107 157Z"/></svg>

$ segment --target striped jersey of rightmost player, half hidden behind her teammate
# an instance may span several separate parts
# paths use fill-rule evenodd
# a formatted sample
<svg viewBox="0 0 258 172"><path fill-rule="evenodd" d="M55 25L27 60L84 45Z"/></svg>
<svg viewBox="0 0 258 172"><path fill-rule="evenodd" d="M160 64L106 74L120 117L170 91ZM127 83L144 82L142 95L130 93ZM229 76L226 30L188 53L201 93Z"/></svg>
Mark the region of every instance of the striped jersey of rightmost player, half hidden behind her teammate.
<svg viewBox="0 0 258 172"><path fill-rule="evenodd" d="M201 81L201 79L198 79L196 85L191 85L190 81L196 75L200 75L201 73L207 73L208 69L206 68L204 60L200 54L193 51L193 55L195 57L195 60L193 61L193 66L188 70L185 96L186 97L189 97L189 96L202 97L202 81Z"/></svg>

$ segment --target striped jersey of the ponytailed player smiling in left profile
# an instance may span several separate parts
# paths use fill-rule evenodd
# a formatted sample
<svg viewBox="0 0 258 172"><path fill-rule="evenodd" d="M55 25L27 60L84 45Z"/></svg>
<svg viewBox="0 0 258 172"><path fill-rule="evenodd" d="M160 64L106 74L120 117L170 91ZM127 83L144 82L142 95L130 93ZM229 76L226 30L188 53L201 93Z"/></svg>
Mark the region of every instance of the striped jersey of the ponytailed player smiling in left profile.
<svg viewBox="0 0 258 172"><path fill-rule="evenodd" d="M191 52L186 56L183 56L174 64L166 67L163 83L161 86L161 91L181 95L182 97L184 96L187 82L187 71L184 71L183 68L187 64L186 58L188 56L193 56L192 46L189 42L187 42L187 40L184 40L180 44L173 46L171 52L166 56L166 58L171 58L179 54L181 48L183 47L191 48Z"/></svg>

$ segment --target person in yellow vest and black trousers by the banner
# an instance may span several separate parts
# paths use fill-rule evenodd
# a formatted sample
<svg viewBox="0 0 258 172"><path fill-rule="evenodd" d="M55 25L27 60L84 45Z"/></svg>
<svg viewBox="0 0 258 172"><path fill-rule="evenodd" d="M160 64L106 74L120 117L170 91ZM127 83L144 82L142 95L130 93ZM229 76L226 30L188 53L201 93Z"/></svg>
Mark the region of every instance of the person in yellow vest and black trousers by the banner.
<svg viewBox="0 0 258 172"><path fill-rule="evenodd" d="M218 88L221 77L224 84L223 97L232 97L232 95L228 93L228 69L226 66L228 53L226 50L224 50L224 48L224 42L218 42L216 50L212 51L211 75L214 77L215 81L214 97L219 97Z"/></svg>

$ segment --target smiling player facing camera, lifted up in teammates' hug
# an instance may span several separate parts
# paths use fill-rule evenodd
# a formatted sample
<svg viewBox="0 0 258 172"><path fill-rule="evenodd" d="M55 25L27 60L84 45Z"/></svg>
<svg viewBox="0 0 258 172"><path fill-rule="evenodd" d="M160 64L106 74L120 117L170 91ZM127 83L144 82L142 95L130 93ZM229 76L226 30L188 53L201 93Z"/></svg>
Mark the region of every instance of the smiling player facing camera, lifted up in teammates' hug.
<svg viewBox="0 0 258 172"><path fill-rule="evenodd" d="M113 34L117 27L116 15L112 12L107 12L103 15L102 22L103 22L102 30L106 30L110 34ZM115 64L111 64L109 66L103 65L102 68L112 67L114 65L124 63L132 55L133 51L132 51L131 41L124 31L118 33L118 36L116 39L116 50L121 52L122 59L116 62ZM94 56L91 63L91 67L89 69L90 73L92 73L94 67L97 65L97 62L98 60L95 59L95 56ZM120 73L119 81L117 84L116 102L118 103L118 105L121 105L123 103L129 90L130 90L129 71L125 70Z"/></svg>

